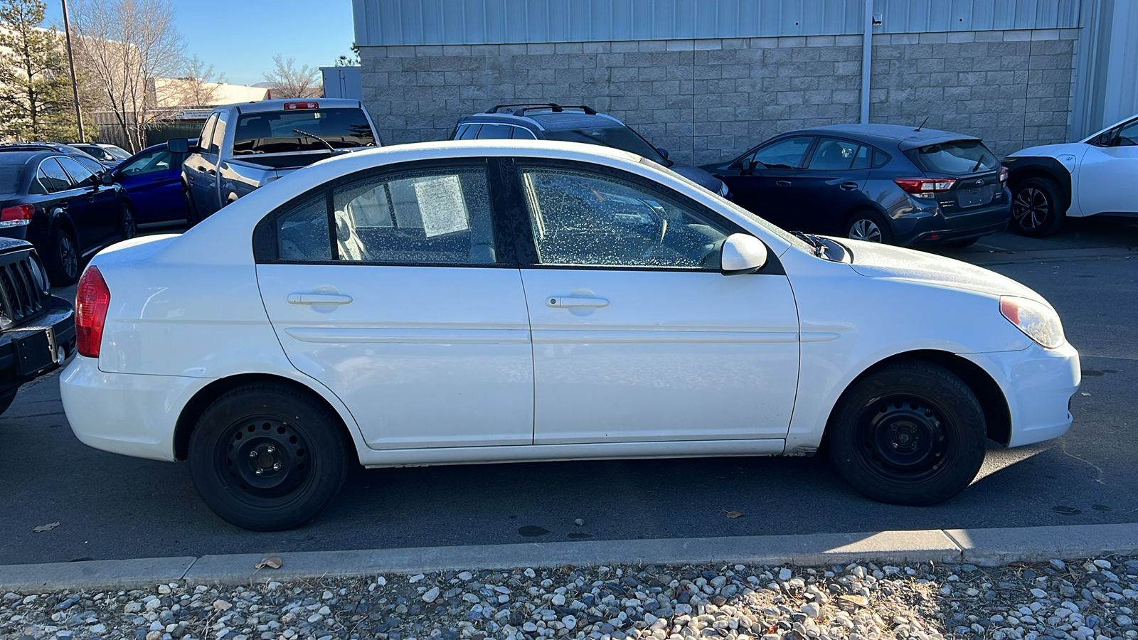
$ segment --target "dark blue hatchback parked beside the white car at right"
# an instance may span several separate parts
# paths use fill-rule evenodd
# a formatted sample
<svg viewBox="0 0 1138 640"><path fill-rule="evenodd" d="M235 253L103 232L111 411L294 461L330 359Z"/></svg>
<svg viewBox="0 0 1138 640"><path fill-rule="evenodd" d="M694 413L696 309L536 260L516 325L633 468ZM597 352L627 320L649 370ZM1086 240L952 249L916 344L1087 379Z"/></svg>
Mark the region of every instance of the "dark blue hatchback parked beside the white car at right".
<svg viewBox="0 0 1138 640"><path fill-rule="evenodd" d="M902 246L965 246L1007 228L1007 170L971 136L836 124L704 165L736 204L789 230Z"/></svg>

